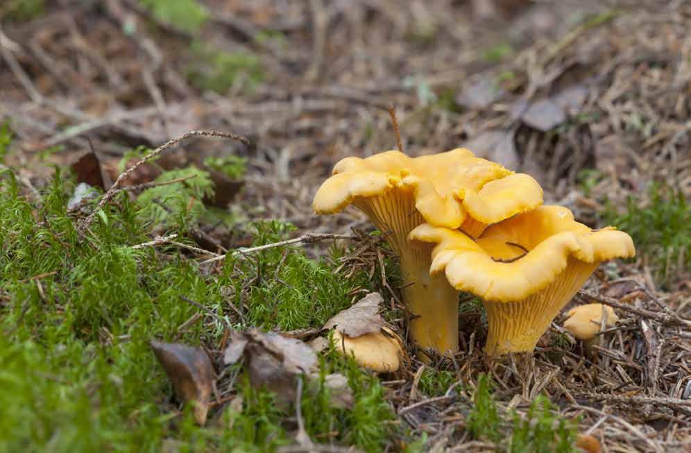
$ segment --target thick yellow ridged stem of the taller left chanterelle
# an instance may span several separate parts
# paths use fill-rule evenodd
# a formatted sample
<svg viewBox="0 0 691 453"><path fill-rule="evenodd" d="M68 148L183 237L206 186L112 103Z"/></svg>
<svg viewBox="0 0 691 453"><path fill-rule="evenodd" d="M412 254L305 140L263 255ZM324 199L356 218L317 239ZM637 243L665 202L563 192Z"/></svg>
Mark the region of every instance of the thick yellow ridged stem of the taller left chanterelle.
<svg viewBox="0 0 691 453"><path fill-rule="evenodd" d="M383 196L360 198L353 204L386 235L400 259L402 298L411 314L410 339L418 348L434 348L440 354L458 352L459 291L443 275L429 275L433 246L413 246L408 239L413 228L425 221L416 210L412 192L389 191ZM477 230L485 226L475 223Z"/></svg>

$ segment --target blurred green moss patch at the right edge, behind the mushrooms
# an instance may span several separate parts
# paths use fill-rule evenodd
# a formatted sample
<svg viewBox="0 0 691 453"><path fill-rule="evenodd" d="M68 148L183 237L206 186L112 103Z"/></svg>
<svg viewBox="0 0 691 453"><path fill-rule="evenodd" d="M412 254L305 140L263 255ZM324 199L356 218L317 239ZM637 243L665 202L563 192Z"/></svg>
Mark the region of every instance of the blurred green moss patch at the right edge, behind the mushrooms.
<svg viewBox="0 0 691 453"><path fill-rule="evenodd" d="M629 196L625 210L607 203L601 216L631 234L638 255L647 259L661 284L691 269L691 205L681 190L653 185L646 198Z"/></svg>

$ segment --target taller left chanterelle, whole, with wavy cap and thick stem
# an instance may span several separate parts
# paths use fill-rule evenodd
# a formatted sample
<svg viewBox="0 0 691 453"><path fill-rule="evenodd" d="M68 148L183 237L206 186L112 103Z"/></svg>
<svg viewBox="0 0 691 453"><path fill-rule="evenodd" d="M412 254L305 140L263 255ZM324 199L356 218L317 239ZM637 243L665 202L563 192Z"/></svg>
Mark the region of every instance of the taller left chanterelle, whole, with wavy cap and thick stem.
<svg viewBox="0 0 691 453"><path fill-rule="evenodd" d="M458 291L429 275L431 246L411 247L408 234L426 221L477 237L486 225L541 205L536 180L467 149L416 158L398 151L346 157L333 173L314 197L314 210L334 214L352 204L365 212L400 257L411 339L420 348L456 352Z"/></svg>

